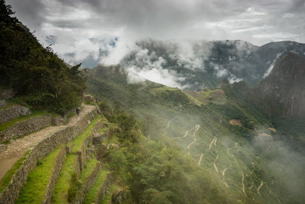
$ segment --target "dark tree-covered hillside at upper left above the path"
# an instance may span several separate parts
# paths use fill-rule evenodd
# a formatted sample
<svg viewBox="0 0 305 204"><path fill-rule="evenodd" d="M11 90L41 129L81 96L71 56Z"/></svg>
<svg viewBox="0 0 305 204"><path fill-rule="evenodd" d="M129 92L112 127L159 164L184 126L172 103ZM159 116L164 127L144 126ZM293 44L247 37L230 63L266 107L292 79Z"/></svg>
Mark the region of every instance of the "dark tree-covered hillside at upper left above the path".
<svg viewBox="0 0 305 204"><path fill-rule="evenodd" d="M69 68L13 14L0 0L0 85L13 87L36 109L63 114L79 105L85 89L80 64Z"/></svg>

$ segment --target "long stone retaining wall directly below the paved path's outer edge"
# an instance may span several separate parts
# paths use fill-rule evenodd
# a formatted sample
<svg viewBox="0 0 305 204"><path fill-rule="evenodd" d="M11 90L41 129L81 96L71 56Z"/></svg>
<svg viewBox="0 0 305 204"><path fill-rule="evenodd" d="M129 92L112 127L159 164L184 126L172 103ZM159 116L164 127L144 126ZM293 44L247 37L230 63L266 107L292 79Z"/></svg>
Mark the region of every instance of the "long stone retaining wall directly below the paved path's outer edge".
<svg viewBox="0 0 305 204"><path fill-rule="evenodd" d="M23 161L21 167L16 171L10 184L2 193L0 193L0 204L14 204L15 199L19 196L19 191L25 184L29 173L36 167L37 160L42 159L57 146L66 144L81 134L88 127L88 120L97 116L97 110L86 114L75 125L67 126L61 131L54 132L51 136L40 141L33 146L31 153Z"/></svg>

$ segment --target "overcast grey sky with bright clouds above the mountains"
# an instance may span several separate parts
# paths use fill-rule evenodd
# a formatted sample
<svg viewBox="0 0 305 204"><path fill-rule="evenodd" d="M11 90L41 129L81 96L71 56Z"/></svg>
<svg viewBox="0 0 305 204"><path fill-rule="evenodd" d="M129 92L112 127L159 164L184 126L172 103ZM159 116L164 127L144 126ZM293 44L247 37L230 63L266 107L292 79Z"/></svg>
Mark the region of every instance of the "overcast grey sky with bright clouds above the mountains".
<svg viewBox="0 0 305 204"><path fill-rule="evenodd" d="M75 64L135 40L305 43L305 0L7 0L45 46ZM104 53L105 54L105 53ZM88 65L89 66L89 65Z"/></svg>

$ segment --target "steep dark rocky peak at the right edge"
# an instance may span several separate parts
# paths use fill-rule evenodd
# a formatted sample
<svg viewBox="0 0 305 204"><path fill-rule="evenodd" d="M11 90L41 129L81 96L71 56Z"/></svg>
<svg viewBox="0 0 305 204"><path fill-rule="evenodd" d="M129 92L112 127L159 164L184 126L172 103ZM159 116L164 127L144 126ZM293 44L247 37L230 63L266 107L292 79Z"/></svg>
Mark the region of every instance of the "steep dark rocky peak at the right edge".
<svg viewBox="0 0 305 204"><path fill-rule="evenodd" d="M271 114L305 116L305 58L290 52L282 55L252 89L252 101Z"/></svg>

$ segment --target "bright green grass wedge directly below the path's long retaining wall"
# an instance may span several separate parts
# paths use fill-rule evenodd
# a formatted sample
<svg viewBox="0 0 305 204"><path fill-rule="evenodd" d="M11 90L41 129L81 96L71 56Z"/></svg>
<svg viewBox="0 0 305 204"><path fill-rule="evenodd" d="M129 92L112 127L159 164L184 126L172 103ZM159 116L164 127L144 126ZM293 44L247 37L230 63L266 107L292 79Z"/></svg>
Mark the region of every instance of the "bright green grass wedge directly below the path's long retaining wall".
<svg viewBox="0 0 305 204"><path fill-rule="evenodd" d="M48 154L42 160L39 160L36 168L29 174L27 182L21 189L19 197L15 204L39 204L43 203L46 187L53 173L61 146Z"/></svg>

